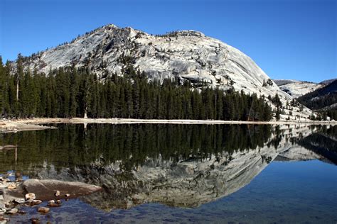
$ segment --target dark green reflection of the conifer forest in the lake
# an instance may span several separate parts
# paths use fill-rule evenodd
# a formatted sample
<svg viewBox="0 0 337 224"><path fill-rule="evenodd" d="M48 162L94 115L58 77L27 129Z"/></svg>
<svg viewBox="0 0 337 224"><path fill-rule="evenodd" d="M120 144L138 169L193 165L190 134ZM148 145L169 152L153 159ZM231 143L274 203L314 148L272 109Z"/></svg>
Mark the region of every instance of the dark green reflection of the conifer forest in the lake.
<svg viewBox="0 0 337 224"><path fill-rule="evenodd" d="M262 147L270 138L270 125L167 125L133 124L58 125L57 130L4 133L1 144L18 145L18 168L42 166L75 167L122 160L125 168L141 165L146 157L163 159L200 158L222 152ZM13 152L0 155L7 169Z"/></svg>

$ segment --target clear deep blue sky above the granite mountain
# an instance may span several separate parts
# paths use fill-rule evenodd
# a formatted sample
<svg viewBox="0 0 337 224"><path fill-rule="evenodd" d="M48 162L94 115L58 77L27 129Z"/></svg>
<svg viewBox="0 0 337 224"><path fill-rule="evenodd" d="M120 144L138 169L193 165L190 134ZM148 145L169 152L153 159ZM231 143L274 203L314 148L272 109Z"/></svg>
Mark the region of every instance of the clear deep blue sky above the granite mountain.
<svg viewBox="0 0 337 224"><path fill-rule="evenodd" d="M113 23L146 33L199 30L252 57L269 77L337 77L336 0L0 0L0 55L15 60Z"/></svg>

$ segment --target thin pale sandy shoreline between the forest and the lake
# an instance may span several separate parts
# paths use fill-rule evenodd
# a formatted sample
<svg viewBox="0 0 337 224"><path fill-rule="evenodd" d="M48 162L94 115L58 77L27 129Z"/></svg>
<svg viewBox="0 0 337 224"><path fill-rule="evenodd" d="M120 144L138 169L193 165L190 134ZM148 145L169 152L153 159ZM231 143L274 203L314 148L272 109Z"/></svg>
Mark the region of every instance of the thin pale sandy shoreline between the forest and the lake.
<svg viewBox="0 0 337 224"><path fill-rule="evenodd" d="M336 125L336 121L218 121L218 120L165 120L165 119L134 119L134 118L31 118L15 121L0 121L0 133L17 132L23 130L43 130L53 127L45 126L46 123L167 123L167 124L248 124L248 125Z"/></svg>

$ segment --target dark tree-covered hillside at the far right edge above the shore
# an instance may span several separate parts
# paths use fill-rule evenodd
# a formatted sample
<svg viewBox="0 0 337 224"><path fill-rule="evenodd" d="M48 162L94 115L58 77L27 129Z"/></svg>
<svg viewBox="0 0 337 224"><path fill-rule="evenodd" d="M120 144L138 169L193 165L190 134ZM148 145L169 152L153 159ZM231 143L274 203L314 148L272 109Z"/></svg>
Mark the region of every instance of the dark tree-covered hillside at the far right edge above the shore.
<svg viewBox="0 0 337 224"><path fill-rule="evenodd" d="M337 108L337 80L301 96L299 102L314 110Z"/></svg>

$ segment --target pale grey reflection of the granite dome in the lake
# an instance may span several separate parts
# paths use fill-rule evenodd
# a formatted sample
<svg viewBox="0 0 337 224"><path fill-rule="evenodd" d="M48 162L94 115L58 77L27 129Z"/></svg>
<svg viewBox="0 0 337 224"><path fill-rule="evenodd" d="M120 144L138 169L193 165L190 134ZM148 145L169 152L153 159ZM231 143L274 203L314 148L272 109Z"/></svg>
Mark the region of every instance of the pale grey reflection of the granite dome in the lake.
<svg viewBox="0 0 337 224"><path fill-rule="evenodd" d="M197 207L246 186L276 157L292 154L297 160L324 160L322 155L310 150L301 148L299 151L300 147L292 141L310 133L309 127L283 127L276 130L267 144L255 150L224 151L206 158L198 155L174 159L163 159L161 155L147 157L141 166L134 166L129 172L121 169L122 161L104 168L92 164L63 169L60 177L103 186L105 191L82 199L105 210L129 208L145 202ZM53 174L42 172L40 177L50 178Z"/></svg>

